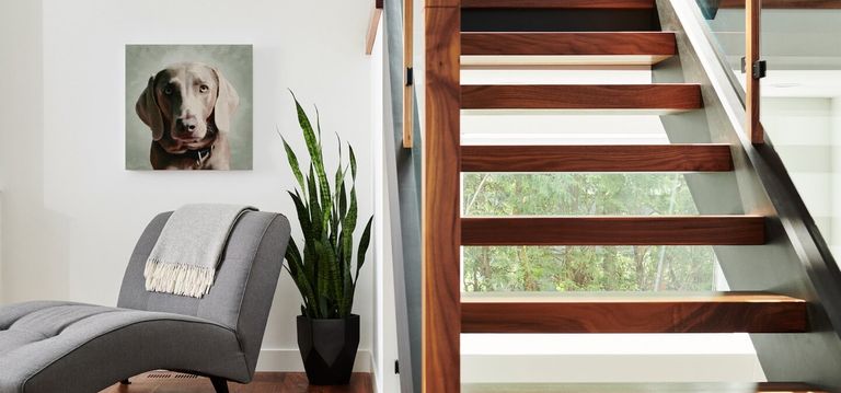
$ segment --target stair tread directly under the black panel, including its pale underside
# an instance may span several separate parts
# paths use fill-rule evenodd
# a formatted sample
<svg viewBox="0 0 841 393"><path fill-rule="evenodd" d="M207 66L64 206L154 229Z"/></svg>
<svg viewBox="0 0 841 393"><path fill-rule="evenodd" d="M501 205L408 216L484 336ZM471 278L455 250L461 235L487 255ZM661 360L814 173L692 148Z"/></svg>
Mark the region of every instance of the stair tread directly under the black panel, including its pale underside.
<svg viewBox="0 0 841 393"><path fill-rule="evenodd" d="M461 33L462 68L654 65L676 50L667 32Z"/></svg>

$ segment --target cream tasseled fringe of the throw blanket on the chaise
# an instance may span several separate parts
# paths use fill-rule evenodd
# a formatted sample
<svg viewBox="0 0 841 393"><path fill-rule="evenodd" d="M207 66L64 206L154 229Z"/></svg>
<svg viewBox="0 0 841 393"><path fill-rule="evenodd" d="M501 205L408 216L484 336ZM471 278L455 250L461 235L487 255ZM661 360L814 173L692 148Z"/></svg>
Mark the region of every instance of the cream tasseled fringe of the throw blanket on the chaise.
<svg viewBox="0 0 841 393"><path fill-rule="evenodd" d="M143 269L146 290L193 298L203 298L210 291L216 269L183 264L169 264L149 259Z"/></svg>

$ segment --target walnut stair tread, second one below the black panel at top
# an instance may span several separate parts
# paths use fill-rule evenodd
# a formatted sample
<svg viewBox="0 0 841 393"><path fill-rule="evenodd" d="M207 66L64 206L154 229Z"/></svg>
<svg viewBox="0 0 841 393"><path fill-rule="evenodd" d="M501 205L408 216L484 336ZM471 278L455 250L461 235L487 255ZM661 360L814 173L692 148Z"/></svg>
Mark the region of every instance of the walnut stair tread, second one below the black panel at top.
<svg viewBox="0 0 841 393"><path fill-rule="evenodd" d="M698 84L462 85L464 109L670 109L702 107Z"/></svg>

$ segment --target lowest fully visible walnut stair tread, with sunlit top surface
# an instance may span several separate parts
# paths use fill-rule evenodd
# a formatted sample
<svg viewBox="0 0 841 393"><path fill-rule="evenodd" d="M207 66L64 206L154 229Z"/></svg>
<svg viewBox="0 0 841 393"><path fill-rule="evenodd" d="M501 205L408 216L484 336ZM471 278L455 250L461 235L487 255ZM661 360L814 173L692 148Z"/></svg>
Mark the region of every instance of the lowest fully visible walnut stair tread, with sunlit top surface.
<svg viewBox="0 0 841 393"><path fill-rule="evenodd" d="M462 298L462 333L800 333L806 302L764 293Z"/></svg>

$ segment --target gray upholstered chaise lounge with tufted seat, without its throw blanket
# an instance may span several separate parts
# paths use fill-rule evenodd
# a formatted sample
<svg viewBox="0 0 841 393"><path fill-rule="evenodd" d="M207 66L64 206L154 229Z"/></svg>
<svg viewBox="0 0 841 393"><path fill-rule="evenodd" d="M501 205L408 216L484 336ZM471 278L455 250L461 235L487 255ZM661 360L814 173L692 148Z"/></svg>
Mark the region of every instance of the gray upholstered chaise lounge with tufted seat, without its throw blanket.
<svg viewBox="0 0 841 393"><path fill-rule="evenodd" d="M227 381L254 375L289 222L247 212L235 224L203 299L147 292L143 266L170 213L152 220L131 255L117 308L27 302L0 309L0 393L91 393L168 369Z"/></svg>

